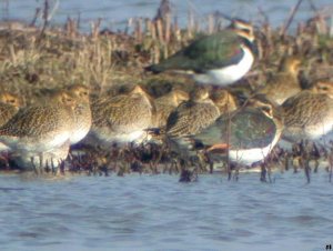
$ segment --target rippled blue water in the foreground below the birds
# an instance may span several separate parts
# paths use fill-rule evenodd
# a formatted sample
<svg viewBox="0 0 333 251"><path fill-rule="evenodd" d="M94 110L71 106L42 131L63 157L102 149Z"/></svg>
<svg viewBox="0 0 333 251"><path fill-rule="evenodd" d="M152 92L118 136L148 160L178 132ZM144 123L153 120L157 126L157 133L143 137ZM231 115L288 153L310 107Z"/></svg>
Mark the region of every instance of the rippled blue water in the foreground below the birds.
<svg viewBox="0 0 333 251"><path fill-rule="evenodd" d="M321 171L176 175L0 175L3 250L325 250L333 193Z"/></svg>

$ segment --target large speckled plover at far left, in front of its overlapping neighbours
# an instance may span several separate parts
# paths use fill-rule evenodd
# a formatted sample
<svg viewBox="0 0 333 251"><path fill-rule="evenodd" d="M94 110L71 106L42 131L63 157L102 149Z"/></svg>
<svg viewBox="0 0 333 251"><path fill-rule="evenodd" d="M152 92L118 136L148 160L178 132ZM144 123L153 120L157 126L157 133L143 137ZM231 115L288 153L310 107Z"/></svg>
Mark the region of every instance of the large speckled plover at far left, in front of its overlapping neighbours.
<svg viewBox="0 0 333 251"><path fill-rule="evenodd" d="M74 101L62 93L49 106L21 109L0 128L0 141L14 151L48 151L68 140Z"/></svg>

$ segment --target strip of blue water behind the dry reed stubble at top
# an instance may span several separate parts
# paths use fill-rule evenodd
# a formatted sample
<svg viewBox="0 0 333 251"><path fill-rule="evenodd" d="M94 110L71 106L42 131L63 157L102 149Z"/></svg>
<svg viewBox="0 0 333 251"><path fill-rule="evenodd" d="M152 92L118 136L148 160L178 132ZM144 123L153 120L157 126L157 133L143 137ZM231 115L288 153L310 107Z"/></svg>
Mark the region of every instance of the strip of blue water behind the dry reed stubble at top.
<svg viewBox="0 0 333 251"><path fill-rule="evenodd" d="M102 19L102 27L111 29L123 29L127 20L134 17L153 18L161 0L67 0L58 1L54 8L51 23L63 23L68 17L78 18L80 13L81 28L89 30L91 22L98 18ZM20 19L31 21L36 9L43 7L43 0L2 0L0 1L0 14L2 19ZM50 0L56 3L56 0ZM295 16L295 20L306 20L314 12L310 4L311 1L303 1ZM331 6L332 0L315 0L312 1L317 9ZM295 6L296 0L188 0L175 1L171 0L174 16L181 24L186 23L188 11L191 8L196 18L204 18L209 13L219 10L235 17L241 17L254 22L263 21L265 13L270 22L275 26L281 26L290 14L290 10ZM261 11L259 11L259 9ZM332 13L332 11L331 11ZM205 23L206 20L202 20Z"/></svg>

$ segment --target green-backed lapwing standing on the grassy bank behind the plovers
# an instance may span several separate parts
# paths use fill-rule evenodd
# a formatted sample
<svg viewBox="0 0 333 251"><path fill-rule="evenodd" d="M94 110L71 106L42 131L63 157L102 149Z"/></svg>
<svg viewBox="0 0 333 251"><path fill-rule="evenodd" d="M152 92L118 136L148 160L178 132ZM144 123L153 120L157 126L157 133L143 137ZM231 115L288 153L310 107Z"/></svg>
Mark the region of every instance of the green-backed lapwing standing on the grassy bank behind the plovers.
<svg viewBox="0 0 333 251"><path fill-rule="evenodd" d="M240 80L252 67L258 52L253 27L233 19L218 33L204 36L158 64L145 70L188 71L198 83L226 86Z"/></svg>

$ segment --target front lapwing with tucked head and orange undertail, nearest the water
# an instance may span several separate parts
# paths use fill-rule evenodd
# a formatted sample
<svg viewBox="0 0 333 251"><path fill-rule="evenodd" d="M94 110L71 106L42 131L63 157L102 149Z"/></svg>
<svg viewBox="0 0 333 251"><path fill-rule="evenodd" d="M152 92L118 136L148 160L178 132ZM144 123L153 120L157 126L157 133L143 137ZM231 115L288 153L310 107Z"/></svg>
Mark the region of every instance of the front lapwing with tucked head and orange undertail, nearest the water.
<svg viewBox="0 0 333 251"><path fill-rule="evenodd" d="M192 135L194 143L208 152L226 153L232 163L251 167L271 152L283 130L283 117L278 107L262 96Z"/></svg>

